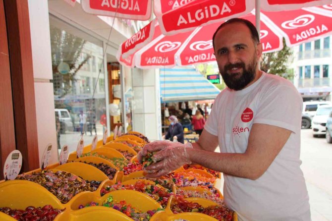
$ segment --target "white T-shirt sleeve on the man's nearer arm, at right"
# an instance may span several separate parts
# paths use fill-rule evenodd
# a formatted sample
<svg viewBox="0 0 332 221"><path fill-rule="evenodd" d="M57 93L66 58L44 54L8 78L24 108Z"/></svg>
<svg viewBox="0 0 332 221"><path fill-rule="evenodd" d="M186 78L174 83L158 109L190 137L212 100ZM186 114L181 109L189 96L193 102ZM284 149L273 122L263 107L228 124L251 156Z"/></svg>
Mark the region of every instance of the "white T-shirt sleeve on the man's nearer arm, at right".
<svg viewBox="0 0 332 221"><path fill-rule="evenodd" d="M261 95L253 123L264 123L291 130L301 129L302 98L295 88L277 86Z"/></svg>

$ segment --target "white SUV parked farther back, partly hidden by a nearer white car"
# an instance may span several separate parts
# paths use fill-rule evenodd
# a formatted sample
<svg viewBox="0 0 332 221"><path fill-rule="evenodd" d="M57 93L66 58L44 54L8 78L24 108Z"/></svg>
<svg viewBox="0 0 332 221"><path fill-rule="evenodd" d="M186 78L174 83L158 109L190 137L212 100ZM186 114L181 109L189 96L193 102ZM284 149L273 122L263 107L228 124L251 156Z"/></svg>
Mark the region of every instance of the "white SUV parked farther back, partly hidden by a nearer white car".
<svg viewBox="0 0 332 221"><path fill-rule="evenodd" d="M308 129L311 126L311 121L316 114L317 108L322 105L332 105L330 101L306 101L303 102L302 110L302 129Z"/></svg>

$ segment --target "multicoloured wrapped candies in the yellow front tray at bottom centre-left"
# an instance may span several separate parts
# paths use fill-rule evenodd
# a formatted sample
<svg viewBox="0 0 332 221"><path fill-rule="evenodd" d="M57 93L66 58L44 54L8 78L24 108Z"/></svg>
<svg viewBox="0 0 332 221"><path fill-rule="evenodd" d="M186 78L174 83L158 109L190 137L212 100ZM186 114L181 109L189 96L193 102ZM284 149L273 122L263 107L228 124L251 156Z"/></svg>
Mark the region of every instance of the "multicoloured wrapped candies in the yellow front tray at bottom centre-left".
<svg viewBox="0 0 332 221"><path fill-rule="evenodd" d="M91 203L87 204L85 207L89 207L89 206L98 206L98 203L91 202ZM162 210L162 209L149 210L149 211L143 213L142 211L132 207L131 204L126 203L126 201L124 201L124 200L117 202L116 200L113 199L113 197L111 195L102 204L102 206L110 207L115 210L118 210L121 213L123 213L123 214L127 215L128 217L130 217L131 219L133 219L134 221L149 221L156 212ZM82 209L82 208L84 208L84 206L80 205L78 208Z"/></svg>

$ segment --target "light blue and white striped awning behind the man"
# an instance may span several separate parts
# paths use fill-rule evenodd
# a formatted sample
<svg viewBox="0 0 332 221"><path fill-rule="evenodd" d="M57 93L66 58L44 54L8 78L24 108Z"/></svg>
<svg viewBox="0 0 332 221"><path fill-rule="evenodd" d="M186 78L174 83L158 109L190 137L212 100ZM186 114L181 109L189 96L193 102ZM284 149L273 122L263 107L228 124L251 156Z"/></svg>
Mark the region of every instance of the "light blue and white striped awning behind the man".
<svg viewBox="0 0 332 221"><path fill-rule="evenodd" d="M220 90L195 68L160 69L162 103L215 99Z"/></svg>

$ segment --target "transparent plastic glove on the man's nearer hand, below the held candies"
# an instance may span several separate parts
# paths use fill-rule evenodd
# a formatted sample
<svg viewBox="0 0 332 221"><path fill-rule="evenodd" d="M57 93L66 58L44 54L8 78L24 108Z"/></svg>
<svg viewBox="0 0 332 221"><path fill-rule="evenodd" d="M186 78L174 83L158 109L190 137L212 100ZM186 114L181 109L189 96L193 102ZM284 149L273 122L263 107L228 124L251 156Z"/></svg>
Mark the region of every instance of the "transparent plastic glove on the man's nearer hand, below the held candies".
<svg viewBox="0 0 332 221"><path fill-rule="evenodd" d="M188 154L188 148L192 148L190 143L183 145L173 143L158 153L153 155L154 163L144 168L146 177L156 178L168 174L184 164L191 164Z"/></svg>

